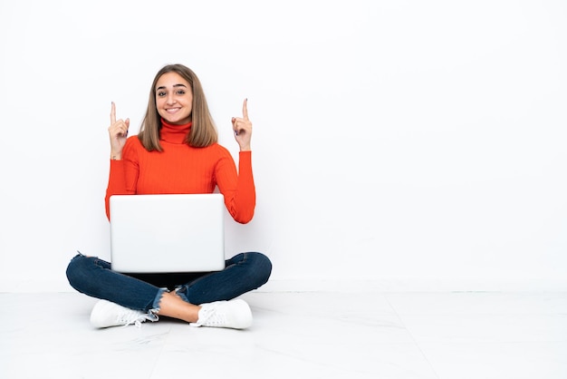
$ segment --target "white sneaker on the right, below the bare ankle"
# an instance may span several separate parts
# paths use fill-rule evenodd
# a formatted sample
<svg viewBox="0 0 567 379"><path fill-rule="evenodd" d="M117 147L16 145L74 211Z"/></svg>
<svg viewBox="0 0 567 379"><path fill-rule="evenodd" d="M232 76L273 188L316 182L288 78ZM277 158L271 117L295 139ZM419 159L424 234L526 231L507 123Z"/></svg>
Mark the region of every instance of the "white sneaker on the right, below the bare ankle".
<svg viewBox="0 0 567 379"><path fill-rule="evenodd" d="M252 325L252 311L242 299L201 304L197 323L189 325L245 329Z"/></svg>

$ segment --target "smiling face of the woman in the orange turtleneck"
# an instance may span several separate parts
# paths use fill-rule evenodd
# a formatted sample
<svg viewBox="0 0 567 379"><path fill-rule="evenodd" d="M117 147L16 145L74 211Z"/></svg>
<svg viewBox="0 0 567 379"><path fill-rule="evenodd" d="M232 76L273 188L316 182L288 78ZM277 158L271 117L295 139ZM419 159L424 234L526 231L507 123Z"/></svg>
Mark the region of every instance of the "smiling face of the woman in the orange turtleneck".
<svg viewBox="0 0 567 379"><path fill-rule="evenodd" d="M178 73L164 73L156 83L156 107L159 115L169 123L181 125L191 121L193 92Z"/></svg>

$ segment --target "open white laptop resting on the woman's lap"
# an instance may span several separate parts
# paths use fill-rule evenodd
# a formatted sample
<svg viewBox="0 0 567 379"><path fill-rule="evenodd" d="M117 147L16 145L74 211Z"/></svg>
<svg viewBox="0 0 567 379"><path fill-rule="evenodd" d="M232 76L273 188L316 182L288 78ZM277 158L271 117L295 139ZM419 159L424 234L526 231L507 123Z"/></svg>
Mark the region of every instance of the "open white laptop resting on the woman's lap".
<svg viewBox="0 0 567 379"><path fill-rule="evenodd" d="M122 273L178 273L225 268L224 197L114 195L111 268Z"/></svg>

